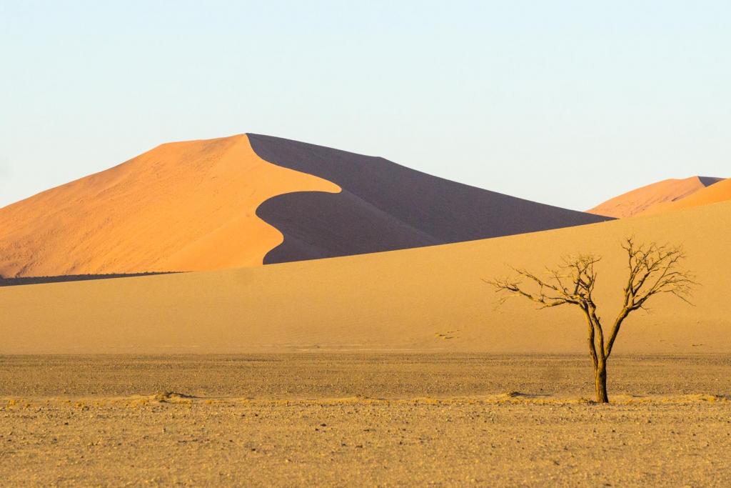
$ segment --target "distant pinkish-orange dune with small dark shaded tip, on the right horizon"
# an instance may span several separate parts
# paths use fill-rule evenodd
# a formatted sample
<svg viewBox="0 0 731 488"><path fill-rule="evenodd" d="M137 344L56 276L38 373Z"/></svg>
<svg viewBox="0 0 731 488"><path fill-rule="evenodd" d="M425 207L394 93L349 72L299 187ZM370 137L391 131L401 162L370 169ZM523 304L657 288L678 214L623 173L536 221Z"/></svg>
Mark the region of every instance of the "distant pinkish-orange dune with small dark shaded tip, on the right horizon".
<svg viewBox="0 0 731 488"><path fill-rule="evenodd" d="M632 217L666 202L681 200L694 192L721 181L720 178L692 176L686 179L667 179L633 189L587 210L590 214L607 217Z"/></svg>

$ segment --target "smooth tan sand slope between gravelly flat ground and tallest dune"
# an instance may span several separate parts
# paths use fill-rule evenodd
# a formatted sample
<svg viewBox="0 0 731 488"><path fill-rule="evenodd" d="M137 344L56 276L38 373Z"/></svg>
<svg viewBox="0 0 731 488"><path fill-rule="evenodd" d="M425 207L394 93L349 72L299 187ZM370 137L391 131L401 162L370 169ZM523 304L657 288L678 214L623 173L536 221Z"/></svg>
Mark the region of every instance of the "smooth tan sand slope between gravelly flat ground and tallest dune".
<svg viewBox="0 0 731 488"><path fill-rule="evenodd" d="M298 350L584 353L578 310L496 309L482 282L596 252L599 315L619 307L619 241L683 244L694 307L659 296L627 320L616 353L731 348L731 202L498 239L221 271L0 288L0 353ZM38 304L43 304L39 307Z"/></svg>

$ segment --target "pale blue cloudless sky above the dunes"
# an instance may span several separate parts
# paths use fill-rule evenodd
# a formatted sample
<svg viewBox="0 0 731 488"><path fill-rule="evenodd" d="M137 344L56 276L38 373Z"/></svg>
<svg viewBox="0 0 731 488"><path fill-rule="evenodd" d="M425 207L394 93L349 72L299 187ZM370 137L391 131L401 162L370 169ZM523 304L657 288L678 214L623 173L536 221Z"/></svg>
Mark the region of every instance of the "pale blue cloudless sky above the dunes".
<svg viewBox="0 0 731 488"><path fill-rule="evenodd" d="M731 176L731 1L0 0L0 206L240 132L571 209Z"/></svg>

